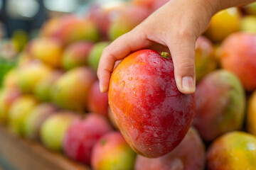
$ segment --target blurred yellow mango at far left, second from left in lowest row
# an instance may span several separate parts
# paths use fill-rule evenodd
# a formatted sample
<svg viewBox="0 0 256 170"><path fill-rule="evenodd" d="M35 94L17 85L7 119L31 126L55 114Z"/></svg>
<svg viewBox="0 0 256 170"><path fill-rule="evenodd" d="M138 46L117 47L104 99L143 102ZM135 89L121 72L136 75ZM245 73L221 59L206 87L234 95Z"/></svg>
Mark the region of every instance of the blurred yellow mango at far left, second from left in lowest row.
<svg viewBox="0 0 256 170"><path fill-rule="evenodd" d="M12 104L9 110L9 130L18 136L26 133L26 118L31 115L31 110L36 107L38 101L33 96L21 96Z"/></svg>

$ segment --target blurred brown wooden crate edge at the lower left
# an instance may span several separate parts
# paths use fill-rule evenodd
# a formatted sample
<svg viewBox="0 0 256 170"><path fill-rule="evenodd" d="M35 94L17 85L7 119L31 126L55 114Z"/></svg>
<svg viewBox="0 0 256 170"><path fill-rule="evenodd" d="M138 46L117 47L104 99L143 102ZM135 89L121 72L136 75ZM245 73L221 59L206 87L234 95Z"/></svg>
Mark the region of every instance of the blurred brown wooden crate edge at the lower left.
<svg viewBox="0 0 256 170"><path fill-rule="evenodd" d="M18 170L90 170L60 153L50 152L38 142L12 135L1 125L0 154Z"/></svg>

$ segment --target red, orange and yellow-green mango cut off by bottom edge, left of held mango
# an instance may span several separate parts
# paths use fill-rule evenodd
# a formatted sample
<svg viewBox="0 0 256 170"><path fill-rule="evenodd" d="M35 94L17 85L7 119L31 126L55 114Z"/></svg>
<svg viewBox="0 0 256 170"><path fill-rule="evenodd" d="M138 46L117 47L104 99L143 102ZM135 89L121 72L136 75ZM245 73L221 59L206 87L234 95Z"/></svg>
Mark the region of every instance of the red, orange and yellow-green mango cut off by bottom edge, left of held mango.
<svg viewBox="0 0 256 170"><path fill-rule="evenodd" d="M95 170L134 169L136 153L120 132L102 136L92 149L92 168Z"/></svg>

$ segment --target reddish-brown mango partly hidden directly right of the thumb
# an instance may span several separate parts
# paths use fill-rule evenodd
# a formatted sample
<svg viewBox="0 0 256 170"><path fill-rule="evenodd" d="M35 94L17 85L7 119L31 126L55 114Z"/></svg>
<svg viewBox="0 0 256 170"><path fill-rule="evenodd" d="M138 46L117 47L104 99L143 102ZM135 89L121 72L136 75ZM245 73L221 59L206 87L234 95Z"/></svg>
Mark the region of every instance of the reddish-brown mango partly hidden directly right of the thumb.
<svg viewBox="0 0 256 170"><path fill-rule="evenodd" d="M200 81L206 74L212 72L217 67L214 57L213 44L203 36L196 40L196 82Z"/></svg>

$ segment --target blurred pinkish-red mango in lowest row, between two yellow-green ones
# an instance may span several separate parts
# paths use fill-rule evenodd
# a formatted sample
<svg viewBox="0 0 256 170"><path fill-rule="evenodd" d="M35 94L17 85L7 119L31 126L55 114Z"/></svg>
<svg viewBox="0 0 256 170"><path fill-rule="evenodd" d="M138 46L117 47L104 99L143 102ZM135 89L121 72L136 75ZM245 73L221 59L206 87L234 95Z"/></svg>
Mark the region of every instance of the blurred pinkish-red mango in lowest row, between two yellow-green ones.
<svg viewBox="0 0 256 170"><path fill-rule="evenodd" d="M65 154L72 159L90 164L92 147L102 135L111 130L110 123L101 115L90 113L84 120L74 120L63 140Z"/></svg>

